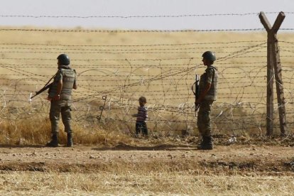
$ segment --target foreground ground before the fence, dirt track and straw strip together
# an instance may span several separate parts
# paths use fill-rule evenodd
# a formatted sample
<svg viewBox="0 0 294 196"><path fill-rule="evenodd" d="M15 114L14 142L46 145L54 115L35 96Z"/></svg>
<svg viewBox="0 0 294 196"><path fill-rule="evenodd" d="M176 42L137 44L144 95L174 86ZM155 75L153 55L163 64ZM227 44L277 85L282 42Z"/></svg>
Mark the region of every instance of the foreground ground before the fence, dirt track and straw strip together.
<svg viewBox="0 0 294 196"><path fill-rule="evenodd" d="M293 195L293 147L2 146L2 195ZM158 143L158 141L156 141Z"/></svg>

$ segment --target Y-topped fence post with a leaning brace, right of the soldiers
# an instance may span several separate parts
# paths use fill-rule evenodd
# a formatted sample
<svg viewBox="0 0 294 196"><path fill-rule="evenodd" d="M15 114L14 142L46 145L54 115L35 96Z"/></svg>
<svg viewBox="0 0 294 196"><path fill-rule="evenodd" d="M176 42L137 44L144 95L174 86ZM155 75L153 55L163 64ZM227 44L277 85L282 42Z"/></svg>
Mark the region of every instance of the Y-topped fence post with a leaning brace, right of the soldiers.
<svg viewBox="0 0 294 196"><path fill-rule="evenodd" d="M259 18L268 33L266 135L271 136L273 134L273 76L275 76L281 136L284 136L287 132L286 120L285 120L285 98L284 98L284 92L283 92L282 68L281 68L280 54L278 50L277 32L281 24L283 23L285 14L283 12L280 12L278 14L278 17L276 18L276 21L273 24L273 27L271 27L271 24L268 22L268 19L266 18L266 15L263 12L259 14ZM274 74L273 74L273 70L274 70Z"/></svg>

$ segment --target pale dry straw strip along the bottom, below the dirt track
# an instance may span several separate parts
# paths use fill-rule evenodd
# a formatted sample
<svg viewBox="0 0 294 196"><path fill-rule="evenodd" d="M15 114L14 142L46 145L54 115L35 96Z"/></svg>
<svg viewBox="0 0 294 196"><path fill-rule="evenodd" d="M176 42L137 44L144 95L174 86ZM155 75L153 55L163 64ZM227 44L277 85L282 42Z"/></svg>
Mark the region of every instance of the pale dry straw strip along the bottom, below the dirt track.
<svg viewBox="0 0 294 196"><path fill-rule="evenodd" d="M190 173L2 173L10 195L292 195L293 177Z"/></svg>

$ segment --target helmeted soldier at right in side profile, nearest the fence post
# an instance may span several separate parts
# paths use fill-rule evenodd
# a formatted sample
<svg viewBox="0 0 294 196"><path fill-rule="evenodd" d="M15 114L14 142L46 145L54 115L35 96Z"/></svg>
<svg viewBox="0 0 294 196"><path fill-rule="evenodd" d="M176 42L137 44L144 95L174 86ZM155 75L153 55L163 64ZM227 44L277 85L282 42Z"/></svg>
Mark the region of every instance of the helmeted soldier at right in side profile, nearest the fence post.
<svg viewBox="0 0 294 196"><path fill-rule="evenodd" d="M205 73L200 77L199 98L195 105L200 109L197 116L197 127L202 136L202 142L197 146L200 150L212 150L212 129L210 125L210 112L212 103L217 99L217 68L212 66L216 57L212 51L202 55L202 62L207 66Z"/></svg>

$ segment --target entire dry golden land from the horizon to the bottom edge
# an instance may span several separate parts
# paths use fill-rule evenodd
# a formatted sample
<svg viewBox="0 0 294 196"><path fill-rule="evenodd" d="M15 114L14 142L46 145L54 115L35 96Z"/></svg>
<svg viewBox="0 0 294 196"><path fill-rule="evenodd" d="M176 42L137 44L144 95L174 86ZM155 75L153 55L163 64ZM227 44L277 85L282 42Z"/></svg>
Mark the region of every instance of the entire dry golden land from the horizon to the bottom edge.
<svg viewBox="0 0 294 196"><path fill-rule="evenodd" d="M264 32L33 29L0 31L1 195L293 195L293 33L278 34L289 135L268 138ZM205 50L216 52L220 77L209 152L195 149L191 91ZM46 92L29 98L55 74L60 53L78 73L75 147L44 148ZM141 95L148 138L133 137ZM278 134L277 114L274 121Z"/></svg>

